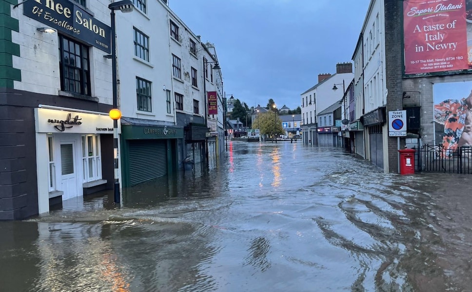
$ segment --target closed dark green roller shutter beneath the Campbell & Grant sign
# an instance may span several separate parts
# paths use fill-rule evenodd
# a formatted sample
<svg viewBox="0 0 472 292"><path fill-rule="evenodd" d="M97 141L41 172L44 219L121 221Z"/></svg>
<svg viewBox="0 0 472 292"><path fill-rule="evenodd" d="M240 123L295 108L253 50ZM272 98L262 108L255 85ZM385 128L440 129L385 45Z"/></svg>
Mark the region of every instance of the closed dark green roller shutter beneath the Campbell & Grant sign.
<svg viewBox="0 0 472 292"><path fill-rule="evenodd" d="M130 140L130 185L167 175L165 140Z"/></svg>

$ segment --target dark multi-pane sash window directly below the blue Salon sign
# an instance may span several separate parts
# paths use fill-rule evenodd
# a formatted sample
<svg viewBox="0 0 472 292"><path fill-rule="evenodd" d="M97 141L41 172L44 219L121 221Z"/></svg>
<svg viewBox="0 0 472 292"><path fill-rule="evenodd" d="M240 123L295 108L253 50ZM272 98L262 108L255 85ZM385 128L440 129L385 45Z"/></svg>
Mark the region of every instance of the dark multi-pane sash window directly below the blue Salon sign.
<svg viewBox="0 0 472 292"><path fill-rule="evenodd" d="M88 47L59 35L60 89L83 95L90 93Z"/></svg>

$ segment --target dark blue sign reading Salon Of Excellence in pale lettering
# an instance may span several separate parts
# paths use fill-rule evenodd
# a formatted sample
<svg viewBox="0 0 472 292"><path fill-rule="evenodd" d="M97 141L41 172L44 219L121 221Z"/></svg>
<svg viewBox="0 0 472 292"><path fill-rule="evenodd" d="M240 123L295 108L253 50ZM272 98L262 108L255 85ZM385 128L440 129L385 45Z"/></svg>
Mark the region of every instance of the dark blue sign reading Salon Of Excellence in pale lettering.
<svg viewBox="0 0 472 292"><path fill-rule="evenodd" d="M111 53L111 28L73 2L29 0L23 3L23 14Z"/></svg>

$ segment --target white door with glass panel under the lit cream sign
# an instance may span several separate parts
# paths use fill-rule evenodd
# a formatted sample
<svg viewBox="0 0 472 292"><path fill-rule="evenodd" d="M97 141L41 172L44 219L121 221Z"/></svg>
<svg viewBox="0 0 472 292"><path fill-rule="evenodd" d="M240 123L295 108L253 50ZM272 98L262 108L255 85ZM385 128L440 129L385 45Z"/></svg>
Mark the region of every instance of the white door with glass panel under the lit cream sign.
<svg viewBox="0 0 472 292"><path fill-rule="evenodd" d="M62 200L67 200L79 196L77 192L77 166L75 165L75 147L74 142L60 143L60 166Z"/></svg>

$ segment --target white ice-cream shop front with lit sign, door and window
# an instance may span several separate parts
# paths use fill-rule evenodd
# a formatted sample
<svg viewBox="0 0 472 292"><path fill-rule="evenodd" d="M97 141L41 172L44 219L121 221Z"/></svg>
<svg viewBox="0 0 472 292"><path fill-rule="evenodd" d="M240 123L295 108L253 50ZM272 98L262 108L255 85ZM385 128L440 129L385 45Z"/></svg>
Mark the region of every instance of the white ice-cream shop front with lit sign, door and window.
<svg viewBox="0 0 472 292"><path fill-rule="evenodd" d="M39 107L35 123L39 213L56 202L112 187L113 120L108 114Z"/></svg>

